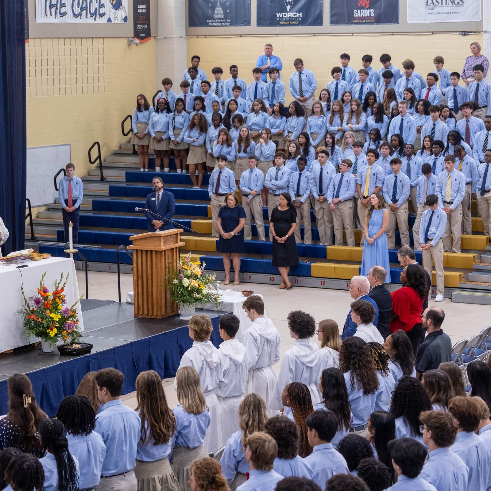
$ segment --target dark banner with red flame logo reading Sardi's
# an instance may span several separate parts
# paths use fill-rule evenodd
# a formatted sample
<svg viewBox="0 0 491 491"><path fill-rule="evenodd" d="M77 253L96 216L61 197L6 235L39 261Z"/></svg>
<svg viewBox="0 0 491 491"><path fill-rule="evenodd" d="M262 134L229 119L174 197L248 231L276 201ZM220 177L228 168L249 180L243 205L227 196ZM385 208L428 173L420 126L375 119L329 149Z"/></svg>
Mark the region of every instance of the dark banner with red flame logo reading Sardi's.
<svg viewBox="0 0 491 491"><path fill-rule="evenodd" d="M330 0L331 26L399 24L399 0Z"/></svg>

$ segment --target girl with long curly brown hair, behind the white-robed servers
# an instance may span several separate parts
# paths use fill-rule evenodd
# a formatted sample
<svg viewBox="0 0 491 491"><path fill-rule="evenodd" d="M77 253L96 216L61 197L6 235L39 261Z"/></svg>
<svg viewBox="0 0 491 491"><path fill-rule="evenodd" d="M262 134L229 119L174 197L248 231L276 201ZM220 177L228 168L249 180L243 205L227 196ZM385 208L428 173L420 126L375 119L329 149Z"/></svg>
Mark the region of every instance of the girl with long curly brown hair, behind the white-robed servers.
<svg viewBox="0 0 491 491"><path fill-rule="evenodd" d="M372 353L363 339L355 336L344 339L339 352L339 368L344 374L353 412L350 431L364 432L368 417L377 404L380 382Z"/></svg>

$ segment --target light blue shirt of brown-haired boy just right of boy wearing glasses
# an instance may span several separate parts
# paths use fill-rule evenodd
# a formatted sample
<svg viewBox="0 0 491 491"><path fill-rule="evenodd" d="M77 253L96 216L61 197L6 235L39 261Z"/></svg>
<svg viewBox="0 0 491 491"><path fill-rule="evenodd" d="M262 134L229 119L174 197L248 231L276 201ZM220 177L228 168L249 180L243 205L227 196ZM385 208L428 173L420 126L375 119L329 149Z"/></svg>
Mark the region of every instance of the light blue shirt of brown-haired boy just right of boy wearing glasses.
<svg viewBox="0 0 491 491"><path fill-rule="evenodd" d="M459 432L450 450L458 455L469 469L467 489L485 491L490 476L490 453L480 436L474 432Z"/></svg>

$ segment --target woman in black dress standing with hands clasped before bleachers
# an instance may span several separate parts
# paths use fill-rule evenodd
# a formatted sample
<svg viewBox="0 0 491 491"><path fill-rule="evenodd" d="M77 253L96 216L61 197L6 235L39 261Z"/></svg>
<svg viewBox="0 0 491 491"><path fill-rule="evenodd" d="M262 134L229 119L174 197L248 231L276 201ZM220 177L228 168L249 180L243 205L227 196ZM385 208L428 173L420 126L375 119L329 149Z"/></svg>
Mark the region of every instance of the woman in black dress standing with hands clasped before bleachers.
<svg viewBox="0 0 491 491"><path fill-rule="evenodd" d="M293 232L297 227L297 212L292 198L287 192L279 195L279 206L273 209L270 218L270 230L273 235L273 266L279 269L283 281L281 290L290 290L292 284L288 280L290 266L299 264L299 254Z"/></svg>

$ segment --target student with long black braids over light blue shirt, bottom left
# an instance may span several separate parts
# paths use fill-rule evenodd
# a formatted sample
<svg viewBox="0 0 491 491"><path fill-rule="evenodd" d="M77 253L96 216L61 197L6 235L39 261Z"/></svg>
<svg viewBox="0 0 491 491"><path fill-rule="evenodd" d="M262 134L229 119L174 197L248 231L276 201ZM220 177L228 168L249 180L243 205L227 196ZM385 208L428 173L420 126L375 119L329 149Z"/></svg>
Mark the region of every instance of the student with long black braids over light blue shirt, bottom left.
<svg viewBox="0 0 491 491"><path fill-rule="evenodd" d="M63 423L55 418L44 419L39 423L38 433L41 447L46 452L39 459L44 469L44 491L77 491L79 462L68 451Z"/></svg>

